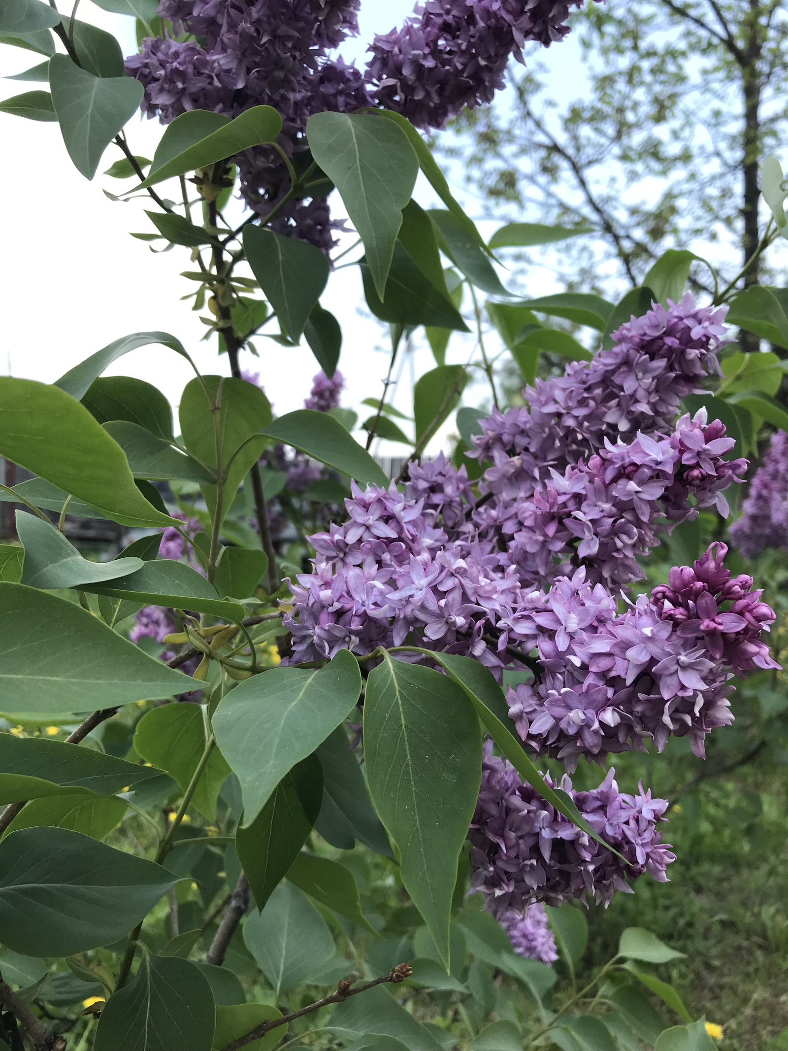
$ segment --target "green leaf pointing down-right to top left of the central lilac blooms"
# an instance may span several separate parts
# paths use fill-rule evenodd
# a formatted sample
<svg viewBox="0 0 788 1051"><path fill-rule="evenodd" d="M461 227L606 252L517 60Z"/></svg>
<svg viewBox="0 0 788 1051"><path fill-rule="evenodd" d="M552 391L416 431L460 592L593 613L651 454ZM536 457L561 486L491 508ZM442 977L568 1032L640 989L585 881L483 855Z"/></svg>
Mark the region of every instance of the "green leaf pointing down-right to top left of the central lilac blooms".
<svg viewBox="0 0 788 1051"><path fill-rule="evenodd" d="M322 463L355 478L361 486L388 486L382 468L352 438L341 424L326 412L296 409L277 416L263 432Z"/></svg>

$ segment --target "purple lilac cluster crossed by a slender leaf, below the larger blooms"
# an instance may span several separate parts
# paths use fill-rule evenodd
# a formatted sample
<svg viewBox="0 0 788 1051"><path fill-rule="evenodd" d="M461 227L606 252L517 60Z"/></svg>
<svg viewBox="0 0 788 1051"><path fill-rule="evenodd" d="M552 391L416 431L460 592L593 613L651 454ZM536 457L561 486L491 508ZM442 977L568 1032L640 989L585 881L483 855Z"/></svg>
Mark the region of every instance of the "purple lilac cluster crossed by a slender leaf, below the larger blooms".
<svg viewBox="0 0 788 1051"><path fill-rule="evenodd" d="M594 831L625 859L606 850L559 813L514 766L484 745L481 788L471 823L473 877L486 908L499 918L522 914L535 902L559 906L574 898L609 903L614 891L630 893L627 879L649 872L661 883L676 860L657 822L667 809L639 786L637 796L620 792L615 770L592 791L574 791L564 776L551 787L567 792Z"/></svg>

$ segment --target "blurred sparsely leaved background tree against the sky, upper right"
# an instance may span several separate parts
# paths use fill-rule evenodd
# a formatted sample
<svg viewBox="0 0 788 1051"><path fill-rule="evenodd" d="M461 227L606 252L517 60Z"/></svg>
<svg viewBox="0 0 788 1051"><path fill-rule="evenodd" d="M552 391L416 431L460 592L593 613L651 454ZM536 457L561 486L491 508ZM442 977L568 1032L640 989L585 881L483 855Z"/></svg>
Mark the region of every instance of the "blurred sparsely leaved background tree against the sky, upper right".
<svg viewBox="0 0 788 1051"><path fill-rule="evenodd" d="M562 67L551 77L528 63L505 104L463 114L459 138L442 145L462 157L469 185L512 218L594 226L593 241L562 246L567 287L623 291L668 247L705 249L734 280L766 226L760 159L785 137L786 5L594 4L575 26L582 94L556 103ZM768 275L755 259L740 280ZM702 267L693 279L711 290Z"/></svg>

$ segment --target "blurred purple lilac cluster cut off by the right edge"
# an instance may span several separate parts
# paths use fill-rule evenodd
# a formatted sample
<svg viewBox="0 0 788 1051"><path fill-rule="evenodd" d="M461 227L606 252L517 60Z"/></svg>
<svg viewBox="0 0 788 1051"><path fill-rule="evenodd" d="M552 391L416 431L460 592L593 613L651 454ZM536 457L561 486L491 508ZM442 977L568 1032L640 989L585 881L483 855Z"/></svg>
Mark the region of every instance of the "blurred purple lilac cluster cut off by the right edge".
<svg viewBox="0 0 788 1051"><path fill-rule="evenodd" d="M750 481L742 516L730 527L730 539L745 558L764 548L788 548L788 434L777 431Z"/></svg>

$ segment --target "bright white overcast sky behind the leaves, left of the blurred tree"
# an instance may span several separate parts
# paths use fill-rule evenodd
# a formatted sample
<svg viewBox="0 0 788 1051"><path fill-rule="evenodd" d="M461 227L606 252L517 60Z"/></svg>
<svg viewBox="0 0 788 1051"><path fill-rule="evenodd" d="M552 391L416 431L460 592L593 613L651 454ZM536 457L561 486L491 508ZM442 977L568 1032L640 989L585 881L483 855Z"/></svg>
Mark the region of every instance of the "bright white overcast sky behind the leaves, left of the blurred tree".
<svg viewBox="0 0 788 1051"><path fill-rule="evenodd" d="M346 58L359 65L375 33L399 25L413 9L413 0L362 0L360 35L343 47ZM89 0L82 0L79 17L112 33L125 54L136 49L133 22L111 15ZM578 89L575 48L567 41L541 57L566 70L566 85ZM0 74L7 77L41 61L41 57L20 48L0 49ZM573 71L571 71L573 70ZM557 78L560 80L561 78ZM3 97L45 88L27 81L0 81ZM158 121L134 117L126 135L136 153L152 157L162 128ZM102 192L118 192L127 183L101 172L118 159L120 151L109 146L99 174L88 182L71 164L57 123L38 123L0 114L0 141L4 160L6 194L1 226L3 233L2 287L3 332L0 372L51 383L79 360L112 341L146 330L171 332L194 356L201 371L227 373L225 356L216 354L215 337L201 343L205 327L180 297L193 290L193 283L181 277L190 269L188 249L175 247L154 254L145 242L129 231L151 230L143 213L147 200L116 203ZM421 180L423 182L423 180ZM166 185L166 184L165 184ZM171 191L173 192L173 191ZM429 185L419 183L419 203L436 203ZM460 194L461 195L461 194ZM479 202L468 203L485 235L500 225L479 214ZM338 195L332 198L334 214L340 214ZM538 217L528 217L538 219ZM505 280L505 275L504 275ZM532 295L553 290L552 277L532 289ZM332 274L323 305L340 321L344 345L339 369L348 382L346 406L357 407L361 398L377 396L388 359L378 323L369 317L356 267ZM299 408L317 365L304 344L286 349L268 339L257 339L261 357L245 354L245 366L258 371L277 413ZM453 337L448 360L464 362L470 345ZM415 375L434 367L424 346L416 351ZM410 368L406 369L395 404L410 412ZM190 378L190 370L177 354L162 347L143 348L116 363L108 374L133 375L159 386L173 404ZM466 398L468 400L468 398ZM364 411L364 409L361 409ZM361 417L364 418L364 417ZM445 430L445 429L444 429ZM380 452L401 455L402 446L386 444Z"/></svg>

